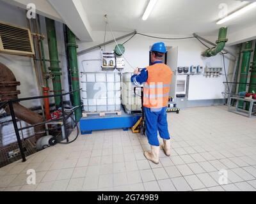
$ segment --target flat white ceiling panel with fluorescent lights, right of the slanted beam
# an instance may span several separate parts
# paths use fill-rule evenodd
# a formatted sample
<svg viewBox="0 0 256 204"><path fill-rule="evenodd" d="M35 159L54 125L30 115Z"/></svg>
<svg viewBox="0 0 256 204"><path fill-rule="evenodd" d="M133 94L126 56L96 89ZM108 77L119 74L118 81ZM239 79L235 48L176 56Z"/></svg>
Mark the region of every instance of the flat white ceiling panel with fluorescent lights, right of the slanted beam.
<svg viewBox="0 0 256 204"><path fill-rule="evenodd" d="M104 31L104 15L108 15L113 31L129 32L136 29L143 33L216 34L221 9L227 4L228 13L248 4L236 0L159 0L148 20L141 17L149 0L83 0L84 10L93 31ZM229 31L236 32L255 25L256 8L249 13L227 22Z"/></svg>

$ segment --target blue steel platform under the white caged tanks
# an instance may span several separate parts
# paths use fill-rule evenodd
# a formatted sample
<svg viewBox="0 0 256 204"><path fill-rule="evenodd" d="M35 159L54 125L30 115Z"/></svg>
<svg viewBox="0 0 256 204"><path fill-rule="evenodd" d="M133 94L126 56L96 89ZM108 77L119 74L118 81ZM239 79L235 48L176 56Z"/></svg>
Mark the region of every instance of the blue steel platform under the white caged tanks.
<svg viewBox="0 0 256 204"><path fill-rule="evenodd" d="M106 114L105 117L97 115L89 115L80 120L80 129L82 135L92 134L92 131L106 129L124 129L132 128L140 119L141 114L127 114L122 111L122 115Z"/></svg>

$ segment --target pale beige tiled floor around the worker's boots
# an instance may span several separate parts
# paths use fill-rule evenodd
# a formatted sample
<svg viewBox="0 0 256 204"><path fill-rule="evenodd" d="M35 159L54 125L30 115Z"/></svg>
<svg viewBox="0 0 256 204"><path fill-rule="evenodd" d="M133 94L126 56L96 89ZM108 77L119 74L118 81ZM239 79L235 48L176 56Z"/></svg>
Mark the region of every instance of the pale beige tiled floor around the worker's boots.
<svg viewBox="0 0 256 204"><path fill-rule="evenodd" d="M256 191L255 118L216 106L170 113L168 121L172 156L161 151L158 165L143 156L147 138L99 131L1 168L0 191ZM26 182L29 169L36 185Z"/></svg>

